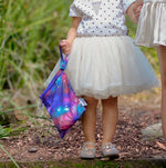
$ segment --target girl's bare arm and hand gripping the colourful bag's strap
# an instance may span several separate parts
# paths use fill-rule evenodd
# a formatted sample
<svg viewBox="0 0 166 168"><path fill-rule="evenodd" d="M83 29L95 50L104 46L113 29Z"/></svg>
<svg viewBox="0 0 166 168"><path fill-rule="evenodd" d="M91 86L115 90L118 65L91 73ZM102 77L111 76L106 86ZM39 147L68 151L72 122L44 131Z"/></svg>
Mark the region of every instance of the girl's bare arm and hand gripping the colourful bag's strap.
<svg viewBox="0 0 166 168"><path fill-rule="evenodd" d="M72 27L70 28L70 30L68 32L66 39L62 40L60 43L60 46L62 48L62 52L64 55L69 55L71 52L72 43L76 37L77 27L79 27L80 22L81 22L81 18L73 17Z"/></svg>

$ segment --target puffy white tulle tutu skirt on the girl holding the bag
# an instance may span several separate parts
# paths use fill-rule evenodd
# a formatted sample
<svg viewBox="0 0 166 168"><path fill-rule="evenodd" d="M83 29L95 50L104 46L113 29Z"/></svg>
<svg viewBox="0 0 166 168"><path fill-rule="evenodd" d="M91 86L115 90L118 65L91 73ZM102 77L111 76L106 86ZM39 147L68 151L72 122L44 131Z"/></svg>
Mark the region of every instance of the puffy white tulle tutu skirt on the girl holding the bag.
<svg viewBox="0 0 166 168"><path fill-rule="evenodd" d="M45 85L59 70L58 62ZM152 66L133 40L122 37L77 37L65 72L77 96L106 99L158 85Z"/></svg>

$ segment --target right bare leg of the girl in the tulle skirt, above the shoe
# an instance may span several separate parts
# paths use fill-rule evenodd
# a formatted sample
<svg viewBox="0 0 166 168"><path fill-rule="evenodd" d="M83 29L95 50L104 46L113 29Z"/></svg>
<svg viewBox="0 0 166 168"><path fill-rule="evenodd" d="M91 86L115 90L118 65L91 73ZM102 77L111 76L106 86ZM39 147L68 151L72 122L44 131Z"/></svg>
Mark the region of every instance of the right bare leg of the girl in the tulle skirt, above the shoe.
<svg viewBox="0 0 166 168"><path fill-rule="evenodd" d="M117 109L117 98L110 97L108 99L102 100L103 105L103 116L102 116L102 126L103 126L103 141L111 142L115 135L116 125L118 120L118 109Z"/></svg>

